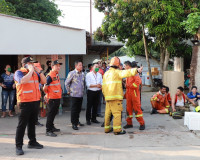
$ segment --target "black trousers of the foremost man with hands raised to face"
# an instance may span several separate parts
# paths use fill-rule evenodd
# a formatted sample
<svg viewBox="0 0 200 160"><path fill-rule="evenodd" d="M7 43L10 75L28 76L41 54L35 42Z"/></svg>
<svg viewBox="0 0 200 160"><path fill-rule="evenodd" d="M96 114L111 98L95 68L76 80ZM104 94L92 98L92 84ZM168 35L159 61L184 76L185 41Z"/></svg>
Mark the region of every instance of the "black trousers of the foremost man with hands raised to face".
<svg viewBox="0 0 200 160"><path fill-rule="evenodd" d="M29 144L36 142L35 123L38 116L39 101L19 103L21 113L19 114L19 122L16 130L16 147L23 146L23 138L27 126Z"/></svg>

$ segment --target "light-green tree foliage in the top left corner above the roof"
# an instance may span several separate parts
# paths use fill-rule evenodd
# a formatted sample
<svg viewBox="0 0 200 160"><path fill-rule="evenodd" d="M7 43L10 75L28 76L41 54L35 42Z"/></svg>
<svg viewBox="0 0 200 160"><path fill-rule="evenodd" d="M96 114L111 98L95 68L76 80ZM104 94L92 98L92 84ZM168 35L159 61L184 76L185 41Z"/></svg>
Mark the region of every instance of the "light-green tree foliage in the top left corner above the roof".
<svg viewBox="0 0 200 160"><path fill-rule="evenodd" d="M14 15L15 8L12 6L12 4L6 2L5 0L0 0L0 13Z"/></svg>

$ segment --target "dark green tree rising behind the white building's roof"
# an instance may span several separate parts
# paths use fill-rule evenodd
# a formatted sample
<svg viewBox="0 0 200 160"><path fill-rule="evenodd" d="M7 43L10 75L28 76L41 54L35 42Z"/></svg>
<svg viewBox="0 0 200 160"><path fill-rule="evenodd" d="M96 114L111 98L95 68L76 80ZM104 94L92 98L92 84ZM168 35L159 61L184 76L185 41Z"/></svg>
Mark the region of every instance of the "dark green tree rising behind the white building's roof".
<svg viewBox="0 0 200 160"><path fill-rule="evenodd" d="M6 0L6 2L15 7L16 15L27 19L59 24L58 17L62 15L54 0Z"/></svg>

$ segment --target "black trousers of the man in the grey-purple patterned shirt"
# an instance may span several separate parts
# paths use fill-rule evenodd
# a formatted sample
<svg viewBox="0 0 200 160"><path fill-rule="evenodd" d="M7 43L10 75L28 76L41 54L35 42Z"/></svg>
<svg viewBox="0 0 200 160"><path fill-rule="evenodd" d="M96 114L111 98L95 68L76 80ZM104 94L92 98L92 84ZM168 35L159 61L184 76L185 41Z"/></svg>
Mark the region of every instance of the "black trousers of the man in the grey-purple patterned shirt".
<svg viewBox="0 0 200 160"><path fill-rule="evenodd" d="M78 125L81 112L83 97L71 97L71 123Z"/></svg>

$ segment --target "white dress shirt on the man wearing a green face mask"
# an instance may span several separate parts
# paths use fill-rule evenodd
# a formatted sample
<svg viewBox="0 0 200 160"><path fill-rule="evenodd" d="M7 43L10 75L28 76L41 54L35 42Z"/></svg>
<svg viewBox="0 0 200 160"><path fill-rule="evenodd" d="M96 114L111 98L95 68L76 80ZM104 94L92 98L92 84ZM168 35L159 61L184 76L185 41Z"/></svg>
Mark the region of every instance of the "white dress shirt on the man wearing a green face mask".
<svg viewBox="0 0 200 160"><path fill-rule="evenodd" d="M99 91L101 90L100 88L90 88L91 85L97 85L101 84L102 85L102 75L100 73L94 73L93 71L89 72L86 74L86 85L88 90L91 91Z"/></svg>

